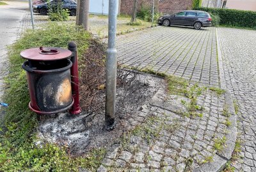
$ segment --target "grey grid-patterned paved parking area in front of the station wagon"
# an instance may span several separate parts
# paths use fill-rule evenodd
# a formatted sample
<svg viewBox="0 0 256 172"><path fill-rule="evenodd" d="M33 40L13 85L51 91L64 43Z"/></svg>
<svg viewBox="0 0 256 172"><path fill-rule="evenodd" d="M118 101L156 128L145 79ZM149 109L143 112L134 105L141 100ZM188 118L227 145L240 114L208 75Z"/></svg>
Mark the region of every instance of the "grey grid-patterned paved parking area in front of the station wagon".
<svg viewBox="0 0 256 172"><path fill-rule="evenodd" d="M118 36L116 47L125 65L220 85L214 27L156 27Z"/></svg>

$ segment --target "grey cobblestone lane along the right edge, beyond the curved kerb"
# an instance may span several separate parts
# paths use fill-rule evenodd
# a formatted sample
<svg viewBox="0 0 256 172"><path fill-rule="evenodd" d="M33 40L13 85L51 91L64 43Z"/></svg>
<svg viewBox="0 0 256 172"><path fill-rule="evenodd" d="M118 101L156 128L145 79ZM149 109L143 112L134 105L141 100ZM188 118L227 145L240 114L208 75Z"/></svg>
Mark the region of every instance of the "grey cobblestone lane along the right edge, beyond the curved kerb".
<svg viewBox="0 0 256 172"><path fill-rule="evenodd" d="M256 31L218 28L227 89L239 105L243 161L236 171L256 171Z"/></svg>

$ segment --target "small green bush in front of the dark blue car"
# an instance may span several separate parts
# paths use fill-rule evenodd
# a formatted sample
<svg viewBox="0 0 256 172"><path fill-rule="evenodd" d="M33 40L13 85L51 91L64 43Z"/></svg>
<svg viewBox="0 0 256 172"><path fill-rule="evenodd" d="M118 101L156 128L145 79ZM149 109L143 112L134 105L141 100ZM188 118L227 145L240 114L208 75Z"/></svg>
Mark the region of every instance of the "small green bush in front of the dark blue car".
<svg viewBox="0 0 256 172"><path fill-rule="evenodd" d="M56 6L49 5L49 20L51 21L67 21L69 11L62 8L62 3L58 2Z"/></svg>

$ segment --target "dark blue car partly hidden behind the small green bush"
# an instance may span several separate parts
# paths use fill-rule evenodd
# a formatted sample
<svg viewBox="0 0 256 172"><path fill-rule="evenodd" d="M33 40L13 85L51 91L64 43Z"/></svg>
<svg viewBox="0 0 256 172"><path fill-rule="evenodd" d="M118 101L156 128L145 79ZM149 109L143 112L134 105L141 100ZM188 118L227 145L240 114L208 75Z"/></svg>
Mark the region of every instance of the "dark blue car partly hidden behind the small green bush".
<svg viewBox="0 0 256 172"><path fill-rule="evenodd" d="M75 1L72 0L52 0L49 1L51 3L51 6L56 6L58 3L62 4L63 9L67 9L70 11L70 15L76 16L76 7L77 4ZM33 5L33 11L35 13L40 13L41 15L47 15L48 13L48 4L49 3L42 3L42 4L34 4Z"/></svg>

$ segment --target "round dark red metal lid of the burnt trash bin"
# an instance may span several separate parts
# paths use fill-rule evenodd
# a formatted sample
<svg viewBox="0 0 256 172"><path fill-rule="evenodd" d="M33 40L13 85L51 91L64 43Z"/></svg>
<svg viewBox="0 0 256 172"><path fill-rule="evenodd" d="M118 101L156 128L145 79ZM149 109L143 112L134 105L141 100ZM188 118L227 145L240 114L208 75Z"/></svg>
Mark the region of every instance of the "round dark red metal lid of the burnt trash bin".
<svg viewBox="0 0 256 172"><path fill-rule="evenodd" d="M71 55L70 50L59 47L29 48L20 52L20 56L29 61L58 61Z"/></svg>

